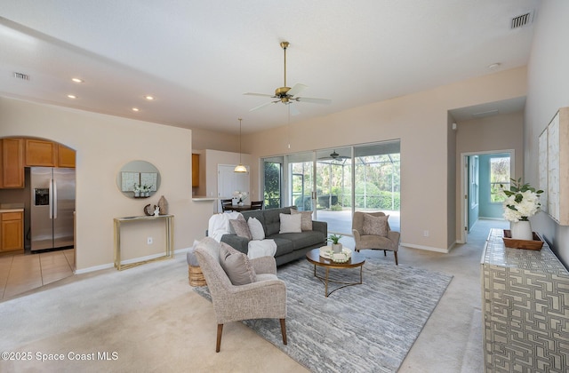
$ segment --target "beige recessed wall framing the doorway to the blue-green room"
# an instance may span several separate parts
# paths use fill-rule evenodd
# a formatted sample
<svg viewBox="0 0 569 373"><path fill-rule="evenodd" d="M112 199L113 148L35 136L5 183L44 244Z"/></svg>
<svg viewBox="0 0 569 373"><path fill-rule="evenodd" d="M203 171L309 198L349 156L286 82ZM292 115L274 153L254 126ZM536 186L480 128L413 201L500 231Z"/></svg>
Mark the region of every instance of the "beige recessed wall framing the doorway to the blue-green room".
<svg viewBox="0 0 569 373"><path fill-rule="evenodd" d="M456 130L456 212L461 218L462 180L461 154L488 153L514 150L514 177L521 178L524 171L524 113L495 115L457 123ZM461 236L460 224L456 225L456 237Z"/></svg>

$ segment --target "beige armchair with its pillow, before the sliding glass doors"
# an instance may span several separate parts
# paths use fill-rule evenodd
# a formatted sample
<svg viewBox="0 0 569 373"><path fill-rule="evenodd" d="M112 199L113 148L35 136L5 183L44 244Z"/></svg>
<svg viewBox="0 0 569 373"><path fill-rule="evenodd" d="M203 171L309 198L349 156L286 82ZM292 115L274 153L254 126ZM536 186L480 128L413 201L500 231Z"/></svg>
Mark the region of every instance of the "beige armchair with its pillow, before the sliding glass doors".
<svg viewBox="0 0 569 373"><path fill-rule="evenodd" d="M352 233L356 242L356 251L359 250L387 250L393 251L395 264L397 262L397 250L399 250L399 232L389 228L388 216L383 212L354 212L352 219Z"/></svg>

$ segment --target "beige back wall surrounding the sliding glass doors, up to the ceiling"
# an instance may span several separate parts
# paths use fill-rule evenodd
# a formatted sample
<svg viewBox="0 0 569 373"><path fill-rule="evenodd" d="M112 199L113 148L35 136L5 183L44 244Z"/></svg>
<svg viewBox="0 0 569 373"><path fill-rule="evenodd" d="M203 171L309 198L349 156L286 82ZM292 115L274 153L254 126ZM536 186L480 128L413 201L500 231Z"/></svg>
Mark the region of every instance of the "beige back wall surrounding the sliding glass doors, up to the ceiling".
<svg viewBox="0 0 569 373"><path fill-rule="evenodd" d="M525 67L518 67L295 123L290 130L258 132L244 138L244 149L258 158L401 139L401 241L446 251L456 240L455 160L448 159L454 139L449 139L447 111L525 96L525 73ZM259 180L257 163L252 164L252 180ZM424 230L429 237L423 237Z"/></svg>

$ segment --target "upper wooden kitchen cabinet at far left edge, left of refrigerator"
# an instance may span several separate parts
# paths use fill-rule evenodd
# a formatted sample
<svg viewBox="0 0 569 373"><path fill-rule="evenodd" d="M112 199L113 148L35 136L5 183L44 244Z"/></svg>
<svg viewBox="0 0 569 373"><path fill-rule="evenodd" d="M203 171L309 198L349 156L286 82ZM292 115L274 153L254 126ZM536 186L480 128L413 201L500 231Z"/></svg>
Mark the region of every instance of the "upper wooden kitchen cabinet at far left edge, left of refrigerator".
<svg viewBox="0 0 569 373"><path fill-rule="evenodd" d="M24 187L24 160L22 139L0 140L0 187Z"/></svg>

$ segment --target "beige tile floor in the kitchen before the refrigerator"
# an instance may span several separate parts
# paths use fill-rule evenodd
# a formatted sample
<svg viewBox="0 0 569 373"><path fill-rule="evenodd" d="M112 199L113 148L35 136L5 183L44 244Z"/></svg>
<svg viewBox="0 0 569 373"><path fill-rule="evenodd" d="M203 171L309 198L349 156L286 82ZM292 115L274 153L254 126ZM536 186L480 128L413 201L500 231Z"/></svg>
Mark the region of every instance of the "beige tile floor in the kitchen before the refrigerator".
<svg viewBox="0 0 569 373"><path fill-rule="evenodd" d="M74 249L0 257L0 299L73 275Z"/></svg>

